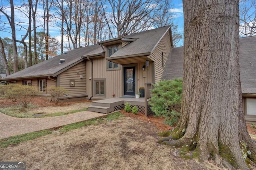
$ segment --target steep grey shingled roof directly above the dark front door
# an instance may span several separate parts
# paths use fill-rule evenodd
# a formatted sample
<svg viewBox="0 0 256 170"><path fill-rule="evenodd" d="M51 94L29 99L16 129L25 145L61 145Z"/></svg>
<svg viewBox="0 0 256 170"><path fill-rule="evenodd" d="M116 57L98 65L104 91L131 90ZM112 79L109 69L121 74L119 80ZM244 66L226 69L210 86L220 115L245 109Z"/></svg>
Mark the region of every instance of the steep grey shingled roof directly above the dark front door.
<svg viewBox="0 0 256 170"><path fill-rule="evenodd" d="M116 53L111 55L112 57L123 57L129 55L139 55L144 53L150 53L157 45L161 37L169 30L170 26L160 27L156 29L150 29L140 33L134 33L131 35L123 36L122 38L136 39L132 41L122 49L119 49Z"/></svg>

